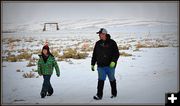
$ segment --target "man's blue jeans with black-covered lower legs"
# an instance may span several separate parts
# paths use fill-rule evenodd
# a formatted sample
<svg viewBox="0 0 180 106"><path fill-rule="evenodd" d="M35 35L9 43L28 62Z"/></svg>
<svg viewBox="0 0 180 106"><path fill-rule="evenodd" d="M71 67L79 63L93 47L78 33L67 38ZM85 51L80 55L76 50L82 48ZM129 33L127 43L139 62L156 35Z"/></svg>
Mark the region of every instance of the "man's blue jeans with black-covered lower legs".
<svg viewBox="0 0 180 106"><path fill-rule="evenodd" d="M102 98L103 96L104 81L106 80L106 76L108 76L111 85L111 94L113 96L117 96L115 69L114 68L111 69L109 67L98 67L97 69L98 69L97 96L100 98Z"/></svg>

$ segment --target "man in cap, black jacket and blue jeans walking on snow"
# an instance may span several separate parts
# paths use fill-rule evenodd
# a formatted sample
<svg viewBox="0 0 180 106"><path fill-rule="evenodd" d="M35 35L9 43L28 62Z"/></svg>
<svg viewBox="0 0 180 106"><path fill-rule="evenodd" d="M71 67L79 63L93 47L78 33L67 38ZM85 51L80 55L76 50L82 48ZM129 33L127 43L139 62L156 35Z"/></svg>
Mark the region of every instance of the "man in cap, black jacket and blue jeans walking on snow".
<svg viewBox="0 0 180 106"><path fill-rule="evenodd" d="M111 98L114 98L117 96L115 67L120 55L119 50L116 42L111 39L106 29L101 28L97 34L99 34L100 40L95 44L91 60L92 71L94 71L94 65L96 63L98 70L97 94L94 96L94 99L102 99L106 75L108 76L111 85Z"/></svg>

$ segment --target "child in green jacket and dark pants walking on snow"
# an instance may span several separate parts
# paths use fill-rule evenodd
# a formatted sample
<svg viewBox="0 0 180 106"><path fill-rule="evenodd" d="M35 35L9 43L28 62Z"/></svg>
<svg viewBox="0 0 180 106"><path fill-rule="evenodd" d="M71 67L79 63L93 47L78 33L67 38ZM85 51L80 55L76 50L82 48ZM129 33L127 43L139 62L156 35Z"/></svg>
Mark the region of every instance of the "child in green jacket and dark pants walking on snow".
<svg viewBox="0 0 180 106"><path fill-rule="evenodd" d="M54 56L50 53L48 45L45 45L42 48L40 59L38 61L38 74L43 75L44 82L41 90L41 98L44 98L46 95L51 96L53 94L53 88L50 83L50 78L53 73L53 69L56 69L56 75L60 76L60 70Z"/></svg>

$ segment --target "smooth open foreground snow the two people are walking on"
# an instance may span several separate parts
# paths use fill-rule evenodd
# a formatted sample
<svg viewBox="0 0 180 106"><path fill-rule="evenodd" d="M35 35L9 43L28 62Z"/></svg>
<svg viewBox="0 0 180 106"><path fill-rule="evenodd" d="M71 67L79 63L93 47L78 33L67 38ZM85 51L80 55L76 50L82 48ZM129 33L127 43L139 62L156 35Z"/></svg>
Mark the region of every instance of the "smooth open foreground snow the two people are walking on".
<svg viewBox="0 0 180 106"><path fill-rule="evenodd" d="M73 64L58 62L61 76L52 75L54 94L40 98L42 76L23 78L22 72L30 71L26 62L3 62L3 103L27 104L133 104L165 103L165 93L178 90L178 49L152 48L142 49L132 57L120 57L116 68L118 96L110 98L108 79L101 101L92 99L96 94L97 72L90 69L91 58L73 60ZM33 68L36 68L35 66Z"/></svg>

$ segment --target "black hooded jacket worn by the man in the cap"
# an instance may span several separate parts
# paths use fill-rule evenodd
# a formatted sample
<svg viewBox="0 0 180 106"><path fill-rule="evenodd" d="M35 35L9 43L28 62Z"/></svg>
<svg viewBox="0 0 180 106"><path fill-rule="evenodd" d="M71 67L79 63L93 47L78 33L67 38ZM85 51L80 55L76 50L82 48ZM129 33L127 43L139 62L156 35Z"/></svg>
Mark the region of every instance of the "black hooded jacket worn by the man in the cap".
<svg viewBox="0 0 180 106"><path fill-rule="evenodd" d="M104 67L109 66L112 61L117 64L120 55L119 49L116 42L110 38L110 35L107 34L106 36L106 41L99 40L96 42L91 65L95 65L97 62L98 67Z"/></svg>

